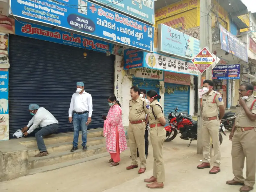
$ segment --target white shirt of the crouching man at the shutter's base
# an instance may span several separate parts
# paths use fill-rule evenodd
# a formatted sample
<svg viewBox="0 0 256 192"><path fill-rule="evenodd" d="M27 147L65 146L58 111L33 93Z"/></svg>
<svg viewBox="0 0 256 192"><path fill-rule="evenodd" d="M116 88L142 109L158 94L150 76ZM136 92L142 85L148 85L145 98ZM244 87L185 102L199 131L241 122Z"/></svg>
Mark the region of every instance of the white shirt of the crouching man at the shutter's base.
<svg viewBox="0 0 256 192"><path fill-rule="evenodd" d="M57 119L55 119L55 117L47 109L40 107L37 110L36 115L34 115L32 119L28 122L27 127L33 124L29 128L28 133L33 132L37 127L39 127L39 125L40 127L45 127L54 123L59 124Z"/></svg>

